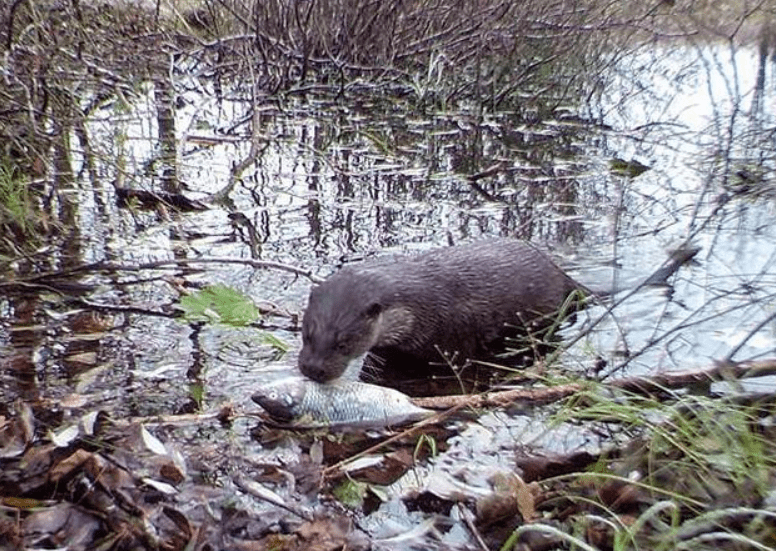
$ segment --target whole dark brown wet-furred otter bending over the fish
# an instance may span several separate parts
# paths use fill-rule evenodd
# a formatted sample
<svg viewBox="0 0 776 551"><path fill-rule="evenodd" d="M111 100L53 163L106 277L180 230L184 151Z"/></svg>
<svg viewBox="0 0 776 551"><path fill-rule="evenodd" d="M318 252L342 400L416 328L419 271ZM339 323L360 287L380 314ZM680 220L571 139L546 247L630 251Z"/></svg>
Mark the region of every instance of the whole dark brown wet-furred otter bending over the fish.
<svg viewBox="0 0 776 551"><path fill-rule="evenodd" d="M549 256L508 238L349 265L310 293L299 368L325 382L367 351L490 359L516 327L552 323L576 290L586 292Z"/></svg>

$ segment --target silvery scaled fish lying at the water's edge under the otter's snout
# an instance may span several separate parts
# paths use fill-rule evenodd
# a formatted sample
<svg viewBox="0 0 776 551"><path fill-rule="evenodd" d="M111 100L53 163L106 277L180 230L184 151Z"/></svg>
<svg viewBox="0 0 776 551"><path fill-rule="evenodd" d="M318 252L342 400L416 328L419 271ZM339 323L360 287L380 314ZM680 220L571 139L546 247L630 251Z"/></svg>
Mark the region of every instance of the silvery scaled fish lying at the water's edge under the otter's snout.
<svg viewBox="0 0 776 551"><path fill-rule="evenodd" d="M274 419L293 428L377 429L404 425L434 412L406 394L361 381L317 383L288 377L261 386L251 399Z"/></svg>

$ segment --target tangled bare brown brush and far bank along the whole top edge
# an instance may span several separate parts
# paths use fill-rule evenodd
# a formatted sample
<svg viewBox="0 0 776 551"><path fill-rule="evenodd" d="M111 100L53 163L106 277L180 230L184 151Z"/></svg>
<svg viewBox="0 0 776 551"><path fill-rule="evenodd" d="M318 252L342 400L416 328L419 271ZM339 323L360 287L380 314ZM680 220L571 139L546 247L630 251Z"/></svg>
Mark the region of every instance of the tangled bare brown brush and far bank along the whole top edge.
<svg viewBox="0 0 776 551"><path fill-rule="evenodd" d="M24 215L0 205L0 226L18 233L19 216L37 218L51 222L32 224L41 239L68 235L74 208L60 190L77 176L73 155L84 155L80 170L95 190L105 185L94 165L102 152L84 122L100 106L129 105L148 83L160 147L146 170L177 193L172 114L187 89L217 98L247 90L256 107L311 95L382 97L420 112L470 104L535 122L602 93L606 67L640 43L746 34L767 55L772 11L768 3L719 11L716 3L599 0L13 0L0 12L0 164L38 185ZM223 134L251 122L255 133L249 117ZM133 175L116 168L112 185L133 188Z"/></svg>

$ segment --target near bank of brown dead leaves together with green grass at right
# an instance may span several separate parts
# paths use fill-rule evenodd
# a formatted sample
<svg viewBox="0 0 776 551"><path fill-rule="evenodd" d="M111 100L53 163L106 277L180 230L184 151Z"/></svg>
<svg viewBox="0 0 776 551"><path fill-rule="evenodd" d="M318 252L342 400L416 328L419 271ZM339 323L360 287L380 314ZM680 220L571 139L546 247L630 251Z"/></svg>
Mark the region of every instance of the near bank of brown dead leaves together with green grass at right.
<svg viewBox="0 0 776 551"><path fill-rule="evenodd" d="M738 374L772 371L773 361L746 367ZM526 550L564 542L602 550L765 548L776 526L776 513L763 506L772 494L774 435L767 420L773 397L713 401L679 390L690 380L735 378L731 370L577 389L558 420L618 430L619 444L561 455L513 442L507 450L512 469L472 463L450 471L434 461L456 446L455 425L438 419L389 437L292 435L259 424L254 437L267 450L295 442L294 460L277 461L228 441L197 439L182 453L154 436L168 439L176 426L231 427L240 422L231 409L129 421L90 411L42 434L41 420L19 401L11 417L0 418L0 543L170 551L436 547L448 541L444 519L456 510L484 549L518 542ZM534 394L546 401L541 389ZM492 404L509 407L515 400L503 397ZM459 398L486 405L476 396ZM526 404L533 397L526 391L518 399ZM735 430L720 430L725 426ZM421 465L430 473L420 486L405 478L401 503L405 514L420 511L437 521L370 537L361 522L384 499L381 487ZM244 499L214 506L238 490L251 496L249 506ZM311 496L335 503L315 506Z"/></svg>

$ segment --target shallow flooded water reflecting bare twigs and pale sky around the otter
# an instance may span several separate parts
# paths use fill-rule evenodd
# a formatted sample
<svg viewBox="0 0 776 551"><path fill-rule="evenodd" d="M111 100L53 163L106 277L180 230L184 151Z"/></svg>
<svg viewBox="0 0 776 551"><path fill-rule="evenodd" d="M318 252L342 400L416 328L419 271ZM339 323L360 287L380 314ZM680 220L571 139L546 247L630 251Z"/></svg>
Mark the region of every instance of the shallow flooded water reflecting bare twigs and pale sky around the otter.
<svg viewBox="0 0 776 551"><path fill-rule="evenodd" d="M117 418L227 403L254 409L257 386L295 369L311 283L218 259L256 257L323 277L373 254L490 235L547 248L580 281L613 290L615 299L673 247L688 240L700 247L672 279L670 295L645 289L587 333L607 306L593 305L564 329L567 339L586 333L561 358L575 376L599 360L603 374L623 376L699 368L731 355L772 358L773 68L772 58L761 64L747 47L657 44L618 57L602 75L605 86L536 120L468 103L420 112L384 97L291 97L258 106L251 119L250 93L237 83L229 99L216 100L181 77L179 175L183 194L208 207L183 213L117 206L114 186L160 191L162 169L151 162L158 154L154 94L138 85L128 104L92 112L90 151L72 140L77 177L60 191L70 198L77 232L66 246L41 244L35 270L25 269L25 259L6 270L21 277L103 260L124 269L66 278L89 286L78 300L51 282L0 297L0 401L41 405L54 427L95 409ZM650 169L618 174L615 158ZM488 168L489 176L467 179ZM208 201L219 192L220 201ZM136 269L195 257L213 260ZM280 313L241 328L178 316L182 293L216 283ZM279 353L266 334L289 351ZM760 378L744 389L772 392L774 384ZM435 470L509 469L519 445L564 453L607 443L594 428L549 423L553 411L489 411L461 423L447 452L386 490L375 530L379 515L394 513L402 530L422 525L398 497ZM302 453L296 444L265 449L250 439L252 424L159 430L192 453L212 445L222 460L225 449L264 461L282 455L286 463ZM460 543L468 536L448 537Z"/></svg>

